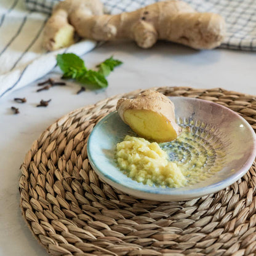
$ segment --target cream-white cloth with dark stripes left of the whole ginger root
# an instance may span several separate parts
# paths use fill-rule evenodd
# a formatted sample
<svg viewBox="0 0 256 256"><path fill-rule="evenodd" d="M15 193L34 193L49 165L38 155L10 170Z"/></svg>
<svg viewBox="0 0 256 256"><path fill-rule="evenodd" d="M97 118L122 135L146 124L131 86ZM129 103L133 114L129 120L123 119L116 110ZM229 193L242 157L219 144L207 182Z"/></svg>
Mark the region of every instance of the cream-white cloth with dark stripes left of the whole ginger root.
<svg viewBox="0 0 256 256"><path fill-rule="evenodd" d="M42 49L42 30L49 15L25 8L24 1L0 1L0 98L49 73L56 55L73 52L79 56L96 46L83 40L55 52Z"/></svg>

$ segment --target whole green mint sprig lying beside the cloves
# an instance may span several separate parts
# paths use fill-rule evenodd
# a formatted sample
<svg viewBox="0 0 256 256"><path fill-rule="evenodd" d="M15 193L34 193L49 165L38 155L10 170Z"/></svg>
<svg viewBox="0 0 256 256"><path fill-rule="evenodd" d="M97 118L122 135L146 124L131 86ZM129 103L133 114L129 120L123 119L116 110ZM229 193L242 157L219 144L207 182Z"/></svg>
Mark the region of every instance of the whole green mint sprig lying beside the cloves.
<svg viewBox="0 0 256 256"><path fill-rule="evenodd" d="M106 76L121 65L120 60L114 60L113 56L97 65L98 71L87 70L84 61L76 54L58 54L57 65L63 71L63 78L75 79L81 86L90 85L92 89L105 88L108 86Z"/></svg>

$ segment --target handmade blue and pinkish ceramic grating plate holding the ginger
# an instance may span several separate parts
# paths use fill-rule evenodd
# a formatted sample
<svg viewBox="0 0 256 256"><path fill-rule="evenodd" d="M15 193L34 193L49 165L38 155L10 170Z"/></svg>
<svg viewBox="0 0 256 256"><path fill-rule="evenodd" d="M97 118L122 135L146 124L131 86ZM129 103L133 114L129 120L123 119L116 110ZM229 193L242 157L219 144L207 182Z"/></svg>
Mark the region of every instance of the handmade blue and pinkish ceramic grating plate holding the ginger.
<svg viewBox="0 0 256 256"><path fill-rule="evenodd" d="M127 134L131 135L132 130L114 111L94 127L87 145L90 164L102 180L137 198L182 201L222 190L249 170L256 156L256 138L245 119L224 106L206 100L186 97L170 97L170 100L175 105L177 123L189 126L193 135L193 140L180 146L180 152L177 156L172 154L172 158L193 168L191 159L210 149L212 153L206 155L202 166L207 178L182 188L169 188L143 185L127 177L116 164L114 153L116 143Z"/></svg>

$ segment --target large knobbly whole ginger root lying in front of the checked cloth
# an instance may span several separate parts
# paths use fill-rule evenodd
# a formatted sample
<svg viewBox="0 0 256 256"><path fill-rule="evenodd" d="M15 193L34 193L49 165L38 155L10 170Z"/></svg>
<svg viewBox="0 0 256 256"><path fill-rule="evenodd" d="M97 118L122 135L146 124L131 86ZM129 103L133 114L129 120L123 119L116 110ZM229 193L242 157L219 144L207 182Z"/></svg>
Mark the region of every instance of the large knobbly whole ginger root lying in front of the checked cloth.
<svg viewBox="0 0 256 256"><path fill-rule="evenodd" d="M46 24L44 48L56 50L72 44L75 31L82 38L99 41L134 40L142 48L161 39L212 49L223 41L225 20L218 14L196 12L177 0L118 15L103 14L99 0L66 0L57 4Z"/></svg>

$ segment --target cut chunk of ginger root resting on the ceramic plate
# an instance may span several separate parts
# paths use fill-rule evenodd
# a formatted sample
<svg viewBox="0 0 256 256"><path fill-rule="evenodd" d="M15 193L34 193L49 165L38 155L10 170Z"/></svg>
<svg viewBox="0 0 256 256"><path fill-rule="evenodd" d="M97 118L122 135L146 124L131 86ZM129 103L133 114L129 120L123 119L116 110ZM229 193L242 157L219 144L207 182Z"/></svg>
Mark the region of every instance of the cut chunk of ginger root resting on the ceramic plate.
<svg viewBox="0 0 256 256"><path fill-rule="evenodd" d="M122 121L141 137L169 142L182 132L175 122L174 103L154 90L145 90L132 100L121 98L116 109Z"/></svg>

